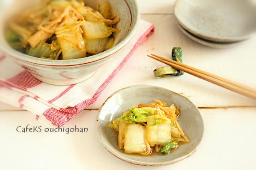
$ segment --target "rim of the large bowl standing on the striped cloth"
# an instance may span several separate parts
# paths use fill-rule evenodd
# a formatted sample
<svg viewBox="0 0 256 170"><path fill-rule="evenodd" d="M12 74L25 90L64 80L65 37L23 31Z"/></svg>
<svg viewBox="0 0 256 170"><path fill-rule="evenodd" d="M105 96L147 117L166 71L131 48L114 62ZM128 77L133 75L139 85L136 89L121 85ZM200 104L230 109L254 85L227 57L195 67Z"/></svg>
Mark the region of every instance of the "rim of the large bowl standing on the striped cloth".
<svg viewBox="0 0 256 170"><path fill-rule="evenodd" d="M0 44L0 49L12 57L22 60L24 62L42 65L42 66L77 66L77 65L84 65L89 63L94 63L96 61L100 61L107 57L112 56L114 53L120 51L129 41L132 39L136 28L138 27L138 23L140 21L140 9L138 7L138 3L136 0L124 0L124 3L128 6L130 11L130 28L128 29L127 35L122 39L122 41L118 42L114 47L103 51L102 53L92 55L89 57L83 57L80 59L69 59L69 60L50 60L50 59L41 59L37 57L32 57L30 55L26 55L15 49L12 49L8 44L3 45ZM133 8L131 8L131 6ZM3 27L5 24L3 25ZM6 41L6 39L5 39Z"/></svg>

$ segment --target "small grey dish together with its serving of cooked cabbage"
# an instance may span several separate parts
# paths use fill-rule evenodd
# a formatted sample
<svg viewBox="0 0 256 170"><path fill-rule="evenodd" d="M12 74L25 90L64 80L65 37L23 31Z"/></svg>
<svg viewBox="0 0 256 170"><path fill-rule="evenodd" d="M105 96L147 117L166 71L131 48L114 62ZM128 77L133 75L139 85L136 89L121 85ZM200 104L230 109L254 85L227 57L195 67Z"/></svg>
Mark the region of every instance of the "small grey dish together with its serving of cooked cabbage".
<svg viewBox="0 0 256 170"><path fill-rule="evenodd" d="M188 98L150 85L114 92L99 109L96 127L108 152L143 166L187 158L198 149L204 133L202 116Z"/></svg>

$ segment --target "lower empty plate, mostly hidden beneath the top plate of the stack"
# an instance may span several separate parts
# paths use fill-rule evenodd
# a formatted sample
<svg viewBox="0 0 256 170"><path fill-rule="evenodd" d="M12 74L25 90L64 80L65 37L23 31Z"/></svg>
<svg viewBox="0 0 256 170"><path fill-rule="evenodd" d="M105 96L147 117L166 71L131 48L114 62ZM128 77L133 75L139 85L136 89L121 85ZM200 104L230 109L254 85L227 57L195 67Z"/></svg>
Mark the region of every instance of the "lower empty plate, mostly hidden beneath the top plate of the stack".
<svg viewBox="0 0 256 170"><path fill-rule="evenodd" d="M179 23L177 23L180 31L184 33L187 37L190 39L196 41L197 43L200 43L202 45L206 45L208 47L213 47L213 48L228 48L228 47L233 47L234 45L237 45L240 43L240 41L235 41L235 42L217 42L217 41L211 41L207 39L203 39L201 37L198 37L192 33L190 33L188 30L184 29Z"/></svg>

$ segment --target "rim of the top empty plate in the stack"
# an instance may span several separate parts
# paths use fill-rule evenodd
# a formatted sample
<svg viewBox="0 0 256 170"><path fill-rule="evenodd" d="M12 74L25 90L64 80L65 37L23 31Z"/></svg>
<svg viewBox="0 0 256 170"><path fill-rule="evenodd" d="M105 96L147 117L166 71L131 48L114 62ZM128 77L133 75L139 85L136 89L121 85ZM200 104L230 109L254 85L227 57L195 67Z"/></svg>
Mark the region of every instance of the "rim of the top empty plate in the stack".
<svg viewBox="0 0 256 170"><path fill-rule="evenodd" d="M246 40L249 39L252 34L254 34L254 32L248 32L244 35L241 36L216 36L216 35L208 35L206 33L201 33L198 30L194 29L194 27L189 27L189 25L187 25L186 23L182 22L182 17L180 17L179 12L178 12L178 4L180 3L180 1L182 0L176 0L175 4L174 4L174 16L176 18L176 21L186 30L188 30L190 33L193 33L194 35L201 37L203 39L208 39L211 41L226 41L226 42L232 42L232 41L242 41L242 40Z"/></svg>

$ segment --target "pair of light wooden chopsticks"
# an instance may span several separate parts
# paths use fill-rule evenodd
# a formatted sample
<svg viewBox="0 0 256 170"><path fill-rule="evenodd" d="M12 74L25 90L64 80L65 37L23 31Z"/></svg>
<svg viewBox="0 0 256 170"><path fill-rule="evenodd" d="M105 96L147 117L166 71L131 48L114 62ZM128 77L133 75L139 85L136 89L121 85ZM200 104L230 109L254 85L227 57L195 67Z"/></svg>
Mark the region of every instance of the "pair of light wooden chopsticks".
<svg viewBox="0 0 256 170"><path fill-rule="evenodd" d="M243 84L239 84L237 82L227 80L226 78L216 76L209 72L205 72L203 70L199 70L197 68L188 66L186 64L179 63L174 60L166 59L166 58L158 56L158 55L151 54L151 55L148 55L148 57L155 59L157 61L160 61L162 63L165 63L169 66L172 66L173 68L176 68L178 70L182 70L188 74L191 74L193 76L196 76L196 77L206 80L208 82L211 82L213 84L216 84L218 86L221 86L223 88L226 88L228 90L231 90L233 92L236 92L238 94L241 94L243 96L246 96L248 98L252 98L252 99L256 100L256 90L252 89L250 87L244 86Z"/></svg>

